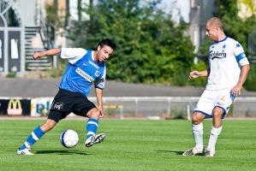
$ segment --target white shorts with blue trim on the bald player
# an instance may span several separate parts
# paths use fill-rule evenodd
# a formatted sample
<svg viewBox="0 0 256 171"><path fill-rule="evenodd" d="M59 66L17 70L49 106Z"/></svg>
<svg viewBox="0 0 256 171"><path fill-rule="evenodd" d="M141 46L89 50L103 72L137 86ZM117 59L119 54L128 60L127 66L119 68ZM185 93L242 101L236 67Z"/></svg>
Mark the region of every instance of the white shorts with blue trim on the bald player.
<svg viewBox="0 0 256 171"><path fill-rule="evenodd" d="M212 109L219 107L224 110L223 117L229 112L230 105L234 102L235 96L231 94L230 89L220 91L205 90L193 112L204 114L205 118L211 118Z"/></svg>

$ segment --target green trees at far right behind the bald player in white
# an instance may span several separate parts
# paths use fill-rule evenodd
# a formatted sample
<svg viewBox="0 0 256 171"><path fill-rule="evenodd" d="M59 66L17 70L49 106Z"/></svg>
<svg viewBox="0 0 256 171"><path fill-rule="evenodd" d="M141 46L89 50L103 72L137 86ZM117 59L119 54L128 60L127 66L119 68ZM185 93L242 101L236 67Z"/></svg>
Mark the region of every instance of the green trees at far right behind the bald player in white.
<svg viewBox="0 0 256 171"><path fill-rule="evenodd" d="M227 36L235 38L242 44L243 49L248 54L248 35L251 32L256 32L256 8L254 6L254 0L216 0L214 16L217 16L223 20L223 29ZM239 6L238 3L243 3L247 6L247 9L254 15L250 17L239 17ZM248 11L247 11L248 12ZM255 39L255 38L254 38ZM208 45L212 42L205 40L205 44L201 45L199 53L208 53ZM206 48L207 47L207 48ZM244 87L248 91L256 91L256 66L255 63L251 63L251 70L248 74L247 81Z"/></svg>

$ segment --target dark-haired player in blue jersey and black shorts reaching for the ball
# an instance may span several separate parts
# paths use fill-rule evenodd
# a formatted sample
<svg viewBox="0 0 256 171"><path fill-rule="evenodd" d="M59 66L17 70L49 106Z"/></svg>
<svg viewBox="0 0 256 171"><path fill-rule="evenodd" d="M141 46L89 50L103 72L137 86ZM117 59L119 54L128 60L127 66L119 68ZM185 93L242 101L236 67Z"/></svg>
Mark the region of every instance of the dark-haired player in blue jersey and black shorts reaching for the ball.
<svg viewBox="0 0 256 171"><path fill-rule="evenodd" d="M59 91L54 97L47 120L43 125L33 130L25 143L17 150L17 154L33 155L30 151L31 146L71 112L89 118L86 123L86 147L91 147L93 144L101 143L104 140L104 133L96 135L96 132L98 119L104 116L105 60L110 57L114 50L116 50L116 44L109 38L105 38L98 43L97 50L58 48L34 53L33 59L35 60L43 56L60 54L61 58L68 59L68 67L59 84ZM97 107L87 99L92 85L95 86Z"/></svg>

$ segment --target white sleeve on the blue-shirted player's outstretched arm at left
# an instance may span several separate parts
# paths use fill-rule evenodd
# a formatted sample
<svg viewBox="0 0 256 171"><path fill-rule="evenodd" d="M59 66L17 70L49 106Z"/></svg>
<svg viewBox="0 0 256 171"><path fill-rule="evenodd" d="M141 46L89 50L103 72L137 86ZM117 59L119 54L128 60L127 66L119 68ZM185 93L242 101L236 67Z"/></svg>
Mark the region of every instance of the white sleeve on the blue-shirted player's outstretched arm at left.
<svg viewBox="0 0 256 171"><path fill-rule="evenodd" d="M63 59L68 59L68 62L74 64L79 61L80 58L85 56L87 51L82 48L61 48L60 57Z"/></svg>

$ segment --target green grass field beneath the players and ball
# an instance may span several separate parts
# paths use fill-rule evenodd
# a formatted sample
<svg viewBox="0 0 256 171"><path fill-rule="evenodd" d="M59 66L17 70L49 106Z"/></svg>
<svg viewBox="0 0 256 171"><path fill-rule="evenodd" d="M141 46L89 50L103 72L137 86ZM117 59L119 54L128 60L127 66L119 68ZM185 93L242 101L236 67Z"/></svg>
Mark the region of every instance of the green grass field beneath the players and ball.
<svg viewBox="0 0 256 171"><path fill-rule="evenodd" d="M214 157L182 156L193 146L190 121L103 120L102 144L84 146L86 121L64 120L33 145L34 156L16 149L43 121L0 121L0 170L256 170L256 121L224 121ZM211 121L205 121L205 144ZM80 141L72 149L59 142L64 129Z"/></svg>

